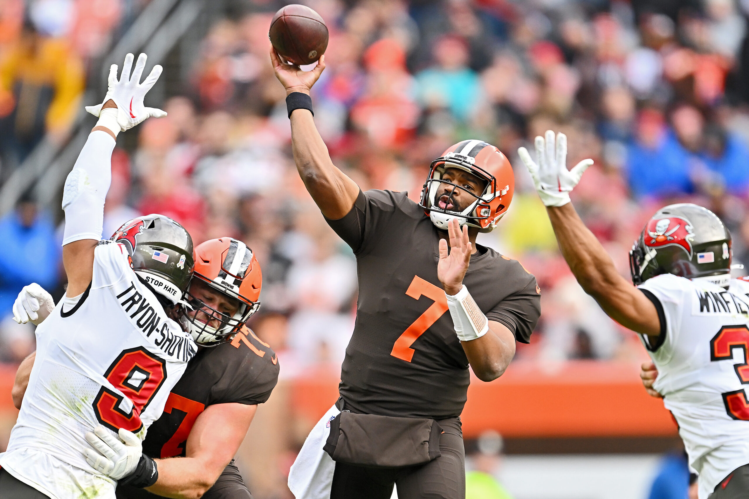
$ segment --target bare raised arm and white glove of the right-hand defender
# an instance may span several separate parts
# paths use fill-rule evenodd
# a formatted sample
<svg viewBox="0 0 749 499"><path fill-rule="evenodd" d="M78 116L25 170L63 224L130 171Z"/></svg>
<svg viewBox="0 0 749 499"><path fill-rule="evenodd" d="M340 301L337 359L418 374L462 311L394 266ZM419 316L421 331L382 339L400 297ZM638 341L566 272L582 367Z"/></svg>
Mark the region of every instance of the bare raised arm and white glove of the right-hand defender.
<svg viewBox="0 0 749 499"><path fill-rule="evenodd" d="M592 160L584 159L568 171L565 165L567 138L560 133L555 139L551 130L546 132L546 138L536 137L538 163L531 159L525 147L518 149L518 154L546 205L562 256L577 282L616 322L655 340L661 332L655 305L619 275L601 242L583 224L569 202L569 192L577 186Z"/></svg>

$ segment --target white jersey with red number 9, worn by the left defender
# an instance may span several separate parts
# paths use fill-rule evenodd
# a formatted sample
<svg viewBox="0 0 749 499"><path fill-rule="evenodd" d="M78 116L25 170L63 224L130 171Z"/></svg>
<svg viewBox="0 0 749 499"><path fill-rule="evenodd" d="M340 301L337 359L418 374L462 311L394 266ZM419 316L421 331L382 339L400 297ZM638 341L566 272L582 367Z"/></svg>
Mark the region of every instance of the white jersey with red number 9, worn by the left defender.
<svg viewBox="0 0 749 499"><path fill-rule="evenodd" d="M124 246L102 241L89 289L37 327L37 356L0 466L52 499L115 498L88 465L84 435L103 424L145 438L197 348L137 278Z"/></svg>

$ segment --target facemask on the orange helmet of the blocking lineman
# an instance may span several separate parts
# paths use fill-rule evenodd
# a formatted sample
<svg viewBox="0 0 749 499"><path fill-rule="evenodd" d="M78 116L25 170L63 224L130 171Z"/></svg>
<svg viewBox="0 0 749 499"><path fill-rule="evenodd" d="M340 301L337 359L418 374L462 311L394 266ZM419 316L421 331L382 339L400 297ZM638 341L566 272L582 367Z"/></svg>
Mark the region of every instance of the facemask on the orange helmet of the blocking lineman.
<svg viewBox="0 0 749 499"><path fill-rule="evenodd" d="M237 301L237 311L233 314L222 312L195 296L192 286L196 281L201 282L213 293L220 293ZM259 307L259 302L243 301L237 296L232 296L227 290L219 290L215 284L202 276L195 275L185 292L184 319L187 331L192 335L195 343L200 346L216 346L231 340Z"/></svg>

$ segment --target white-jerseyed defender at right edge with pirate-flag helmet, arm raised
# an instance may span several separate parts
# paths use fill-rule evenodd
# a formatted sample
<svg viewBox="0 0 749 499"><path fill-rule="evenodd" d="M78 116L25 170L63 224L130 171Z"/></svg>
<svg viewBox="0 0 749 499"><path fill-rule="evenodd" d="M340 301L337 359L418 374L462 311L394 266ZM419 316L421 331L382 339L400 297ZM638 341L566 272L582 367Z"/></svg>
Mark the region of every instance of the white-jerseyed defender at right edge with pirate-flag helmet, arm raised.
<svg viewBox="0 0 749 499"><path fill-rule="evenodd" d="M721 219L691 203L659 209L630 253L633 287L569 202L592 160L568 171L567 138L551 131L536 137L536 161L524 147L518 153L580 286L640 334L658 370L646 387L679 424L700 499L749 498L749 283L730 279L731 236Z"/></svg>

